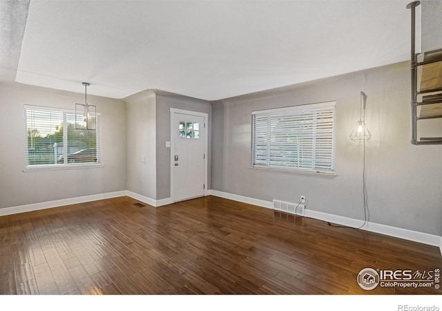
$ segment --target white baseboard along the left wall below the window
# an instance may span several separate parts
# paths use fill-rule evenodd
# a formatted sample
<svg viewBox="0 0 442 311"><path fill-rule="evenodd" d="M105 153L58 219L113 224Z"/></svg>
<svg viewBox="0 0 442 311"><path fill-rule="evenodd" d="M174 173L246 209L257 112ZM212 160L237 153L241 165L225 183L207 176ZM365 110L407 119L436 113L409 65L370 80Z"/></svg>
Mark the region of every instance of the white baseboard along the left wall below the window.
<svg viewBox="0 0 442 311"><path fill-rule="evenodd" d="M79 196L77 198L67 198L62 200L53 200L48 202L39 202L28 205L19 205L14 207L6 207L0 209L0 216L24 213L26 211L37 211L39 209L50 209L52 207L61 207L64 205L73 205L78 203L104 200L106 198L117 198L119 196L126 196L126 191L108 192L106 194L93 194L90 196Z"/></svg>

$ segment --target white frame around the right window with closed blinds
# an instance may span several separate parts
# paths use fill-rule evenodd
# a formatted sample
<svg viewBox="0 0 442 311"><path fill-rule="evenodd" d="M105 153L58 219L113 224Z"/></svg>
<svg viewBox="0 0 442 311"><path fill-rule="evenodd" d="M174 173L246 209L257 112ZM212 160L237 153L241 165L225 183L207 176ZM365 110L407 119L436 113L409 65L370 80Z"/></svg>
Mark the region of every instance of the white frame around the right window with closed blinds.
<svg viewBox="0 0 442 311"><path fill-rule="evenodd" d="M287 166L272 166L272 165L262 165L255 164L255 117L256 115L261 116L269 116L269 117L278 117L287 115L287 113L293 113L293 115L299 115L300 112L311 111L311 113L315 113L317 111L321 111L323 109L332 109L332 149L331 149L331 169L315 169L313 168L305 168L305 167L287 167ZM269 127L268 125L267 127ZM315 131L316 132L316 131ZM267 144L268 146L268 144ZM314 154L316 150L314 146L314 142L312 142L311 153ZM268 147L269 148L269 147ZM267 155L267 161L269 161L269 155ZM266 109L260 111L252 111L251 112L251 168L252 169L260 169L267 171L283 171L288 173L300 173L300 174L308 174L308 175L320 175L320 176L330 176L335 177L335 169L336 169L336 101L330 102L320 102L315 104L302 104L298 106L288 106L276 109Z"/></svg>

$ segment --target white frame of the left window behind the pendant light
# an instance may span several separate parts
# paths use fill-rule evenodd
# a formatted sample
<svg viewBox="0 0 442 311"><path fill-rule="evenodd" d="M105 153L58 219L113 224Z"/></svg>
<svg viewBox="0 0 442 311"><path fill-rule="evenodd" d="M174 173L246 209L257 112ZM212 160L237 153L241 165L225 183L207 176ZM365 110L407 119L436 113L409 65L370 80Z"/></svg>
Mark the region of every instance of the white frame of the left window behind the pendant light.
<svg viewBox="0 0 442 311"><path fill-rule="evenodd" d="M101 131L101 113L96 113L97 115L97 128L96 132L96 142L97 142L97 162L81 162L81 163L62 163L62 164L29 164L28 157L28 110L38 110L38 111L53 111L57 113L63 113L63 128L67 129L68 124L68 114L75 115L75 109L64 109L57 107L48 106L37 106L37 105L24 105L23 115L24 115L24 169L23 172L33 172L33 171L59 171L65 169L94 169L99 167L104 167L102 164L102 131ZM92 131L92 130L89 130ZM63 155L66 157L68 155L68 131L63 131L63 142L64 142L64 152Z"/></svg>

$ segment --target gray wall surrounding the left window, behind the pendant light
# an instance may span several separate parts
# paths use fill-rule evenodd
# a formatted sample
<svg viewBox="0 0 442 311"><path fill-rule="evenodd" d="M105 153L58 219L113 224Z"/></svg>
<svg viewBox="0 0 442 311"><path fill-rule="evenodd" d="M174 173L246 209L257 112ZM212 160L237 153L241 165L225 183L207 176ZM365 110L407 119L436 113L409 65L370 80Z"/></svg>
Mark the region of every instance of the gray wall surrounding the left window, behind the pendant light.
<svg viewBox="0 0 442 311"><path fill-rule="evenodd" d="M96 104L97 112L102 114L104 167L23 173L26 131L23 105L75 109L75 102L84 102L84 93L0 83L0 208L126 189L124 104L121 100L93 95L88 96L88 102Z"/></svg>

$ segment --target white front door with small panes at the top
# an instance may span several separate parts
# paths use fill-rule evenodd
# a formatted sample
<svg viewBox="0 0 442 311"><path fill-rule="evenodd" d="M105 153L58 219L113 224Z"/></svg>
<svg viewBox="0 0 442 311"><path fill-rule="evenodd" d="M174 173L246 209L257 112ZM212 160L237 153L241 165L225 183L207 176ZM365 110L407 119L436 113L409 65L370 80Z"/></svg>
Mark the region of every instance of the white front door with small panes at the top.
<svg viewBox="0 0 442 311"><path fill-rule="evenodd" d="M202 115L171 110L171 196L174 202L204 196L204 119Z"/></svg>

